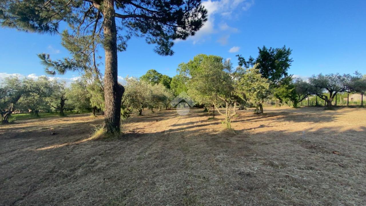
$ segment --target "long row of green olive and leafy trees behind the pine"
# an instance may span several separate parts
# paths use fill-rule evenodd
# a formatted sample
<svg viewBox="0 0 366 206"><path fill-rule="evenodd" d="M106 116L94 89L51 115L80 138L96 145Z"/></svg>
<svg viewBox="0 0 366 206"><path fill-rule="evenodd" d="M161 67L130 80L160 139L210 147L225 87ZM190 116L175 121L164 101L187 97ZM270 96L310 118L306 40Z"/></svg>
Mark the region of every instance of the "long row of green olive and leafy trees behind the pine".
<svg viewBox="0 0 366 206"><path fill-rule="evenodd" d="M127 77L119 105L121 116L142 115L144 108L152 112L154 108L167 110L174 106L171 101L175 96L184 93L213 118L215 112L223 115L227 128L231 128L236 108L255 107L255 113L261 114L268 100L298 107L310 95L316 95L332 108L332 101L339 93L365 94L366 76L358 72L354 75L318 74L308 80L293 78L288 74L290 55L291 49L285 46L262 47L258 48L256 58L250 56L246 60L237 55L239 66L234 69L230 60L199 54L179 64L178 74L172 78L156 70L149 70L140 78ZM96 115L96 111L105 109L103 82L100 74L92 72L85 73L70 87L47 77L7 78L0 87L1 121L7 123L14 111L38 116L40 111L53 110L64 115L64 110L89 109Z"/></svg>

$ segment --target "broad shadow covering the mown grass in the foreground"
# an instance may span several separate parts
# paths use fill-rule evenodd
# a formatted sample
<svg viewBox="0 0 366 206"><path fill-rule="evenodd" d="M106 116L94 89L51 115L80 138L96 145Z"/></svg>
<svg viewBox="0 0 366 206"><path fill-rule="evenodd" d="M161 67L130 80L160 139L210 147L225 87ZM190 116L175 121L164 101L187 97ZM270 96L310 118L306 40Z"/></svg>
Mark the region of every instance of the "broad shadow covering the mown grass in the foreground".
<svg viewBox="0 0 366 206"><path fill-rule="evenodd" d="M233 134L207 125L1 154L0 204L363 204L365 127Z"/></svg>

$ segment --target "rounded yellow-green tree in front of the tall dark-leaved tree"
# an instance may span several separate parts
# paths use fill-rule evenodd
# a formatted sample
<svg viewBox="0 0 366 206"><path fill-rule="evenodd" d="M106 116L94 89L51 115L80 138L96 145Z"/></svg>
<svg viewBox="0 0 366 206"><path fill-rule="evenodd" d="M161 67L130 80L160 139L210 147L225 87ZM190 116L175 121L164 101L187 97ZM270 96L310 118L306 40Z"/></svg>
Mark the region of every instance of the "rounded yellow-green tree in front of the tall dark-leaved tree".
<svg viewBox="0 0 366 206"><path fill-rule="evenodd" d="M270 81L262 77L259 69L254 65L253 68L244 70L240 80L236 82L235 89L240 98L256 107L255 112L259 114L263 113L263 102L270 92L269 85Z"/></svg>

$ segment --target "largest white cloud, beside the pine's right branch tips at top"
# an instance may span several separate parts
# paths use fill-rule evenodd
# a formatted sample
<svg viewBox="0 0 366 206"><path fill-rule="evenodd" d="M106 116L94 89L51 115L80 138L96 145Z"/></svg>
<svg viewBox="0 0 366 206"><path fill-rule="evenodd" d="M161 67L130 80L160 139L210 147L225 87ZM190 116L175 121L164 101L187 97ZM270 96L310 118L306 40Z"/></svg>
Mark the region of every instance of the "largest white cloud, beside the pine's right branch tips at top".
<svg viewBox="0 0 366 206"><path fill-rule="evenodd" d="M216 14L220 14L221 16L224 16L225 18L230 18L231 14L236 10L237 8L242 8L242 10L246 11L248 10L251 5L254 4L254 1L248 2L247 0L207 0L202 1L202 5L207 10L208 20L205 22L205 24L201 27L201 29L196 32L194 36L188 37L188 40L193 41L193 44L198 43L199 41L205 41L205 38L209 36L209 34L217 32L217 29L215 29L215 16ZM245 8L245 9L244 9ZM227 32L238 32L238 29L234 27L229 27L227 23L222 22L219 26L219 29L225 30ZM203 38L205 37L205 38ZM175 40L175 42L179 42L180 40Z"/></svg>

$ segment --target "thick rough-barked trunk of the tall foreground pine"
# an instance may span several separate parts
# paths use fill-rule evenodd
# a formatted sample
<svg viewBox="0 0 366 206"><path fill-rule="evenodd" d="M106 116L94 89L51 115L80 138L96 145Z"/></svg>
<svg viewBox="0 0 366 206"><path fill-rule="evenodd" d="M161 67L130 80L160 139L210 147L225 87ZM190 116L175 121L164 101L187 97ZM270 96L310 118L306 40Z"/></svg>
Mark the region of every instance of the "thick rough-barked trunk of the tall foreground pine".
<svg viewBox="0 0 366 206"><path fill-rule="evenodd" d="M104 133L119 134L121 102L124 88L117 81L117 30L115 22L114 0L103 1L104 15Z"/></svg>

